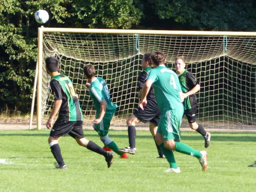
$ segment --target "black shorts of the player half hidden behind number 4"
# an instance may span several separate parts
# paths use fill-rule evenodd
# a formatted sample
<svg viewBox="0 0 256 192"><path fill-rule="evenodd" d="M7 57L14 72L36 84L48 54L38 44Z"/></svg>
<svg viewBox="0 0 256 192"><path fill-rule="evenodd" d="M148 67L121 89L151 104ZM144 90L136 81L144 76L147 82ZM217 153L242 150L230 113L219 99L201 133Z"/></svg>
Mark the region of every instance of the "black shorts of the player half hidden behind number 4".
<svg viewBox="0 0 256 192"><path fill-rule="evenodd" d="M143 123L151 122L158 126L161 112L156 101L148 100L144 110L137 108L134 111L134 116Z"/></svg>

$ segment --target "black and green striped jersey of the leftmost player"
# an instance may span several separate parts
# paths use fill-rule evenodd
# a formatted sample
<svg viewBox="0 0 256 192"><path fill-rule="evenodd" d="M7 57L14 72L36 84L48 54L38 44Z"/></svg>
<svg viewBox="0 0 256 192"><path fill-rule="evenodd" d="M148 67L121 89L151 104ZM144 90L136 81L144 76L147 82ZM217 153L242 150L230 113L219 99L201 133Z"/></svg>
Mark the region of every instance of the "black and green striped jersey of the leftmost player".
<svg viewBox="0 0 256 192"><path fill-rule="evenodd" d="M55 75L50 81L54 100L62 100L59 117L63 120L83 120L82 110L71 80L66 75Z"/></svg>

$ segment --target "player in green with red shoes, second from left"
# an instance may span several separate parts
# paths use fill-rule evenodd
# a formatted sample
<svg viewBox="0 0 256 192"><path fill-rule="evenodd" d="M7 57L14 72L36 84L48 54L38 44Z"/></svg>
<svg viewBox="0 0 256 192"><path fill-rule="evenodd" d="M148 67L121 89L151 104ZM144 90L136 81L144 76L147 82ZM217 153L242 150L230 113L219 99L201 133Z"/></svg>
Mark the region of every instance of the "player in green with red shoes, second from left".
<svg viewBox="0 0 256 192"><path fill-rule="evenodd" d="M128 158L125 153L118 151L118 146L109 136L110 121L116 111L117 105L112 104L108 86L104 79L95 76L93 65L84 65L84 74L87 79L90 97L96 108L96 119L93 120L93 128L98 132L100 140L108 148L112 149L119 158Z"/></svg>

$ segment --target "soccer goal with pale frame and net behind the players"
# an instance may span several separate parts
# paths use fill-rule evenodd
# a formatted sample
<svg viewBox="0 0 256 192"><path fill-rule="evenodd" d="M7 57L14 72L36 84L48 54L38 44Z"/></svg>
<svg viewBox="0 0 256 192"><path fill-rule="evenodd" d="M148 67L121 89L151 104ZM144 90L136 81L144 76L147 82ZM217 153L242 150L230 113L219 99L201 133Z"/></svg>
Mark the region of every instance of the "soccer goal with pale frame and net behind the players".
<svg viewBox="0 0 256 192"><path fill-rule="evenodd" d="M37 129L45 127L42 120L48 119L54 102L45 70L47 57L57 57L60 72L73 82L85 127L91 126L95 108L85 87L83 65L94 65L118 105L112 126L123 127L138 107L141 59L157 50L165 53L172 69L176 56L184 56L186 68L200 81L197 121L205 128L255 129L255 49L254 32L38 28ZM182 128L188 128L186 119Z"/></svg>

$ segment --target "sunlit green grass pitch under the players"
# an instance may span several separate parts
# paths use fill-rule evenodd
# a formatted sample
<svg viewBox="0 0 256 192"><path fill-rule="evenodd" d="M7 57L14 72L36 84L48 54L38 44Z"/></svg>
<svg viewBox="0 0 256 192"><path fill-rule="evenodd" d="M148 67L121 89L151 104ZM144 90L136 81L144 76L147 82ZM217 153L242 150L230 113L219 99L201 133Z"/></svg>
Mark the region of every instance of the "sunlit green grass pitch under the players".
<svg viewBox="0 0 256 192"><path fill-rule="evenodd" d="M110 131L119 147L128 145L127 131ZM212 132L207 149L208 168L201 171L195 157L175 152L181 173L164 173L168 162L157 159L149 131L138 131L137 152L129 159L115 154L111 168L103 156L78 144L70 136L61 138L61 152L67 170L54 169L48 145L48 130L0 131L0 191L10 192L254 192L256 133ZM85 131L85 138L103 146L97 133ZM197 132L182 132L182 142L204 150Z"/></svg>

